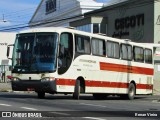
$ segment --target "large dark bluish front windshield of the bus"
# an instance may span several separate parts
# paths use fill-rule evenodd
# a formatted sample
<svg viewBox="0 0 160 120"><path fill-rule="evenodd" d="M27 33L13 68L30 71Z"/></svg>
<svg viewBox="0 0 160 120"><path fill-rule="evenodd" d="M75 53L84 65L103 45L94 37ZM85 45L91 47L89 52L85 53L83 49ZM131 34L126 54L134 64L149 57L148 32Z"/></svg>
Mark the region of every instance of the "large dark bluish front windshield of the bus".
<svg viewBox="0 0 160 120"><path fill-rule="evenodd" d="M54 72L58 33L17 35L13 51L13 73Z"/></svg>

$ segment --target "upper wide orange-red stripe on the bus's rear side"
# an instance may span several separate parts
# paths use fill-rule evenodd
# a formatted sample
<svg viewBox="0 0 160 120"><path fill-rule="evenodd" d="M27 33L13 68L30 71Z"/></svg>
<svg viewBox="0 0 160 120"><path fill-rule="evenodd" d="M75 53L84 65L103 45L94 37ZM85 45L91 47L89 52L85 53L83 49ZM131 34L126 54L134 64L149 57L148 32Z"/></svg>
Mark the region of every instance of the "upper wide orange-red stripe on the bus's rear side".
<svg viewBox="0 0 160 120"><path fill-rule="evenodd" d="M154 74L154 70L152 68L127 66L127 65L104 63L104 62L100 62L100 70L135 73L135 74L145 74L145 75L153 75Z"/></svg>

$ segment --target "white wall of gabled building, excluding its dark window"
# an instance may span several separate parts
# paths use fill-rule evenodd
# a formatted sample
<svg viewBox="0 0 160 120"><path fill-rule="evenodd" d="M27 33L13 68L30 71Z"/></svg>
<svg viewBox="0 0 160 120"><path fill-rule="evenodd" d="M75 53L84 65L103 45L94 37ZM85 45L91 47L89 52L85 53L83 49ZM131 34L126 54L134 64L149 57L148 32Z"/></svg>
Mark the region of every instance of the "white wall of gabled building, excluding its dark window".
<svg viewBox="0 0 160 120"><path fill-rule="evenodd" d="M56 11L46 14L46 1L43 0L41 5L38 7L37 11L33 15L30 25L36 24L36 23L44 23L45 21L55 21L55 20L61 20L64 18L70 18L72 16L80 15L85 12L89 12L98 8L101 8L103 6L103 3L97 3L94 0L57 0L56 2ZM81 18L81 17L80 17ZM69 22L75 20L69 19L69 20L63 20L59 22L52 22L49 24L44 25L38 25L39 26L66 26L66 24L69 25Z"/></svg>

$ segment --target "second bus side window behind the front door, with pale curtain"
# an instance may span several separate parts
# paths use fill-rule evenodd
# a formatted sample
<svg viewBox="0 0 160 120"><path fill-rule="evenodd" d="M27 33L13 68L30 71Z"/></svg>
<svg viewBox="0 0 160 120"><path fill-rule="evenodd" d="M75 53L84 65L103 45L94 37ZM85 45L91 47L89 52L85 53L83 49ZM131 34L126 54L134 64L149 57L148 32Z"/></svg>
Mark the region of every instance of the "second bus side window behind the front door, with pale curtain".
<svg viewBox="0 0 160 120"><path fill-rule="evenodd" d="M105 56L106 50L105 50L105 41L100 40L97 38L92 39L92 54L93 55L99 55L99 56Z"/></svg>

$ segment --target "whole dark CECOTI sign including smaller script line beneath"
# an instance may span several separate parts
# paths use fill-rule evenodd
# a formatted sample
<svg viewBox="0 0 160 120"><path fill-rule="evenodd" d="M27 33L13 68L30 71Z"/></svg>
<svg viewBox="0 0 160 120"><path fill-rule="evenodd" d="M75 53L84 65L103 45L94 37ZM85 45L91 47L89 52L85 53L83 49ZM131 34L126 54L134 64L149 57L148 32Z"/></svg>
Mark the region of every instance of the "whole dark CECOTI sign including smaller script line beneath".
<svg viewBox="0 0 160 120"><path fill-rule="evenodd" d="M126 29L135 28L136 26L144 25L144 14L127 16L115 20L115 32L112 37L121 38L122 36L129 36L129 31Z"/></svg>

